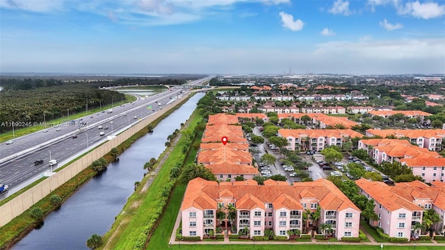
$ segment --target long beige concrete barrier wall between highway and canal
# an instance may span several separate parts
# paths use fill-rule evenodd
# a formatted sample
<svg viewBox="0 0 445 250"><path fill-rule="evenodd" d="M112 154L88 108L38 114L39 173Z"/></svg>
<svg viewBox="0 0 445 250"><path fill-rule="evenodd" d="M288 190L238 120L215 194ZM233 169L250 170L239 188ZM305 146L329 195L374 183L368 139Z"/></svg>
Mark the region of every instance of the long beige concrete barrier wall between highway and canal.
<svg viewBox="0 0 445 250"><path fill-rule="evenodd" d="M76 174L79 174L83 169L86 169L92 164L93 161L105 156L106 153L113 149L113 147L118 147L118 145L122 144L122 142L130 138L132 135L148 126L148 124L153 122L155 119L161 117L161 115L165 114L168 110L176 106L177 103L183 101L184 99L186 99L185 95L181 97L181 99L177 99L174 102L169 103L154 115L140 120L138 124L135 124L131 126L131 128L127 129L127 131L120 133L113 138L113 140L109 140L96 149L93 149L82 158L79 158L79 160L67 165L60 171L56 172L53 176L50 176L44 179L44 181L35 185L33 188L26 190L22 194L19 194L19 196L3 204L3 206L0 207L0 228L8 224L8 222L18 215L24 213L24 211L31 208L31 206L40 201L43 197L46 197L48 194L56 190L56 188L60 187L60 185L63 185L63 183L76 176ZM165 141L167 141L167 138L165 138Z"/></svg>

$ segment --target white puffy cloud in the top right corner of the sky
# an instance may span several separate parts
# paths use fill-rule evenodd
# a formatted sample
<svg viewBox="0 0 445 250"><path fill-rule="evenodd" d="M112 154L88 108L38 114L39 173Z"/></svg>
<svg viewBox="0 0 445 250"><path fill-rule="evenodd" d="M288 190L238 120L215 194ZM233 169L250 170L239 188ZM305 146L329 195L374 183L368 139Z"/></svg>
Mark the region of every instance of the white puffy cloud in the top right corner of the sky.
<svg viewBox="0 0 445 250"><path fill-rule="evenodd" d="M435 2L419 3L419 1L406 3L405 6L398 7L401 15L412 15L413 17L430 19L445 15L445 5Z"/></svg>

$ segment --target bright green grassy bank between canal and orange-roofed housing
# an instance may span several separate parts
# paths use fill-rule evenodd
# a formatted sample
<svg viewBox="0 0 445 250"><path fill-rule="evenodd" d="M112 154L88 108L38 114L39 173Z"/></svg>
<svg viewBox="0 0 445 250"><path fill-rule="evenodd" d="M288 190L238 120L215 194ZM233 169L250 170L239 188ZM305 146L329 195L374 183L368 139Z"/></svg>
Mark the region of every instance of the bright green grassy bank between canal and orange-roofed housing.
<svg viewBox="0 0 445 250"><path fill-rule="evenodd" d="M190 123L185 129L185 133L193 134L195 127L201 120L202 117L194 112L188 119ZM148 234L149 232L145 231L151 230L147 229L147 226L151 228L152 224L156 224L157 217L159 216L159 207L165 202L163 201L163 190L170 183L170 169L184 157L182 149L187 142L188 139L185 136L181 136L175 148L172 149L170 156L165 160L165 163L155 166L156 168L161 168L145 192L141 192L141 190L150 181L151 176L147 175L143 178L138 190L129 197L127 204L116 218L111 230L104 235L103 240L107 242L104 246L105 249L133 249L136 242L140 240L140 235ZM164 154L165 151L159 158L163 158Z"/></svg>

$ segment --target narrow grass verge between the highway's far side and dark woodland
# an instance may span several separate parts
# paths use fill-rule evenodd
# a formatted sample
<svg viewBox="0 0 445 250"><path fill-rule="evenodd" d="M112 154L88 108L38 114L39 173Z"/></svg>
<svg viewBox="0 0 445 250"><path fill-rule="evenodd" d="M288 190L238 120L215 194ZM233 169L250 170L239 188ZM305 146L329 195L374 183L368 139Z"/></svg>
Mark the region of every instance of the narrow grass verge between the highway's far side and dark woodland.
<svg viewBox="0 0 445 250"><path fill-rule="evenodd" d="M131 94L125 94L125 98L126 98L126 100L118 101L118 102L114 103L113 106L111 106L111 105L103 106L102 110L107 110L108 108L120 106L122 104L129 103L131 101L136 101L136 97L134 97ZM100 110L101 110L101 108L94 108L92 110L88 110L88 113L85 113L85 112L79 112L79 113L75 113L75 114L73 113L73 114L70 114L70 119L68 119L68 117L60 117L58 119L48 120L46 123L47 123L47 126L49 126L49 124L60 124L62 122L67 122L68 120L78 119L81 117L85 117L87 115L99 113ZM29 126L29 127L19 128L19 129L15 128L15 131L14 131L15 138L18 138L23 135L29 135L30 133L34 133L36 131L43 130L45 127L42 124L43 124L43 122L39 123L37 126ZM6 142L7 140L13 140L13 139L14 139L13 131L0 134L0 142Z"/></svg>

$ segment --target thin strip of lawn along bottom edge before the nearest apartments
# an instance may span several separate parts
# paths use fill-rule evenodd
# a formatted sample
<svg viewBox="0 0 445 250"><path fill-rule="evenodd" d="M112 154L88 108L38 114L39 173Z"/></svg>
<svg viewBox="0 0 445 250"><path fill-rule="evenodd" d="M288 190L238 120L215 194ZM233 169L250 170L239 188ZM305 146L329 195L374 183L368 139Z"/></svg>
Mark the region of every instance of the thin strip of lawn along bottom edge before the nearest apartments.
<svg viewBox="0 0 445 250"><path fill-rule="evenodd" d="M149 249L149 248L147 248ZM168 249L166 247L165 249ZM179 247L179 244L172 245L171 249L183 249L183 250L250 250L250 249L257 249L257 250L270 250L270 249L280 249L280 250L295 250L295 249L310 249L310 250L378 250L380 249L379 245L344 245L344 244L331 244L329 247L326 244L255 244L253 246L252 244L195 244L195 245L189 245L189 244L181 244ZM409 246L385 246L383 247L384 250L409 250L413 249L412 245ZM416 246L416 250L439 250L444 249L444 247L431 247L431 246ZM159 249L156 249L159 250Z"/></svg>

